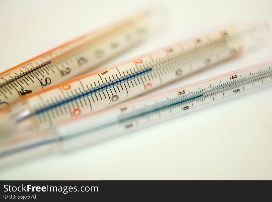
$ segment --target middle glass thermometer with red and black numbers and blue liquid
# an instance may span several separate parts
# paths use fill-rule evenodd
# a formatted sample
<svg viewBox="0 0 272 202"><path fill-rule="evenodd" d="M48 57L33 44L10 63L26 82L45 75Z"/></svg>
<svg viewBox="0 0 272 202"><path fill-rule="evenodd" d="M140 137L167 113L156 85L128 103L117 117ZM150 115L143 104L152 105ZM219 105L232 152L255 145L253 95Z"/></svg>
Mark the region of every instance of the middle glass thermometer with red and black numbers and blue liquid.
<svg viewBox="0 0 272 202"><path fill-rule="evenodd" d="M21 135L25 131L29 134L25 127L32 128L33 133L48 129L56 122L115 104L211 64L238 56L244 45L241 33L258 30L258 26L261 25L251 24L243 32L230 27L26 97L9 108L9 114L2 116L6 118L2 122L11 123L11 126L1 126L2 135L11 134L12 129L16 128L20 128Z"/></svg>

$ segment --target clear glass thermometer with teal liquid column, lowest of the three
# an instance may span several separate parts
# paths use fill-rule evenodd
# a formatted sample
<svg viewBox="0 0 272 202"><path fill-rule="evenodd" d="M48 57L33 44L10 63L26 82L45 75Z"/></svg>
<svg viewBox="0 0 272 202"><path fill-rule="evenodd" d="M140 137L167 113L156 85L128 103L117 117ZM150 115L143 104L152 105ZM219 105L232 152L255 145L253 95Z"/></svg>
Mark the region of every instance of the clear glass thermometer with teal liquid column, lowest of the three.
<svg viewBox="0 0 272 202"><path fill-rule="evenodd" d="M5 157L40 146L45 146L50 151L53 151L52 146L62 146L64 150L81 148L271 84L272 62L240 69L159 95L58 122L47 133L9 142L2 148L0 156Z"/></svg>

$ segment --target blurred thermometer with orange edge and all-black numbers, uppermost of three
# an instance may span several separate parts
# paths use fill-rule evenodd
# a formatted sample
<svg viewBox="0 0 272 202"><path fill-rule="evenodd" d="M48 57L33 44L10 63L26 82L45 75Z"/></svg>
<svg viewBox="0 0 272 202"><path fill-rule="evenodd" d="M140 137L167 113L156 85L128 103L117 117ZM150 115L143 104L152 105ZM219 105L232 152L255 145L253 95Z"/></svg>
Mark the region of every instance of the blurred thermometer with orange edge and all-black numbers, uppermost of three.
<svg viewBox="0 0 272 202"><path fill-rule="evenodd" d="M20 97L90 71L97 64L132 47L145 38L155 10L85 35L28 60L0 74L0 109ZM153 20L153 21L151 21Z"/></svg>

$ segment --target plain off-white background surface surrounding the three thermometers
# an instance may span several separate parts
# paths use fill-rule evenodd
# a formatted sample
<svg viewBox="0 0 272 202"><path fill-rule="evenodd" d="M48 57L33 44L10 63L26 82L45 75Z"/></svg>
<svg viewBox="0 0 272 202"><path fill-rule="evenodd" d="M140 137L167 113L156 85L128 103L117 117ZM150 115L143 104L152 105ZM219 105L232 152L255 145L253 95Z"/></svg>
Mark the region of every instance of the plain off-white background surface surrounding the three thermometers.
<svg viewBox="0 0 272 202"><path fill-rule="evenodd" d="M272 25L269 0L1 0L0 71L152 5L168 10L165 28L106 65L234 23ZM262 44L171 87L271 60L271 53L272 43ZM68 155L2 169L0 179L272 179L271 101L271 88L254 91Z"/></svg>

